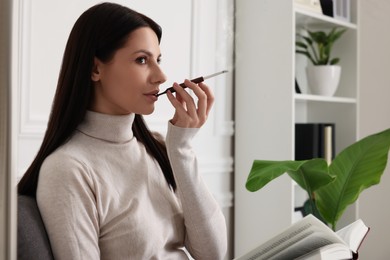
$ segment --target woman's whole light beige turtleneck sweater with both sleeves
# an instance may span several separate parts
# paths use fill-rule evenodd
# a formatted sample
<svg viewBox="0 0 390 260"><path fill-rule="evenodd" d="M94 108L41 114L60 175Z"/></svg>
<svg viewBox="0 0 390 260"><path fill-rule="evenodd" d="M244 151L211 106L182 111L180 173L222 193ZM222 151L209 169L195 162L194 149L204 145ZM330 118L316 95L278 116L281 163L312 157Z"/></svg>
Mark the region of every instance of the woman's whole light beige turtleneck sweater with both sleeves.
<svg viewBox="0 0 390 260"><path fill-rule="evenodd" d="M88 111L71 139L44 161L37 202L55 259L222 259L222 212L198 173L197 129L169 123L177 190L133 136L134 114Z"/></svg>

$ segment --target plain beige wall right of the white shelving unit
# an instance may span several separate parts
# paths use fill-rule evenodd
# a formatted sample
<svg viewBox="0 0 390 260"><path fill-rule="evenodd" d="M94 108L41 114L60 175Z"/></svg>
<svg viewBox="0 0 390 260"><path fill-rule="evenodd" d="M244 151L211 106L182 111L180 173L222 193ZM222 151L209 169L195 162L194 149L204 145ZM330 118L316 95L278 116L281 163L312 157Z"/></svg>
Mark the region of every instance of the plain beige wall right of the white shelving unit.
<svg viewBox="0 0 390 260"><path fill-rule="evenodd" d="M359 1L359 136L390 127L390 2ZM359 217L371 227L361 259L388 259L390 254L390 160L381 182L359 197Z"/></svg>

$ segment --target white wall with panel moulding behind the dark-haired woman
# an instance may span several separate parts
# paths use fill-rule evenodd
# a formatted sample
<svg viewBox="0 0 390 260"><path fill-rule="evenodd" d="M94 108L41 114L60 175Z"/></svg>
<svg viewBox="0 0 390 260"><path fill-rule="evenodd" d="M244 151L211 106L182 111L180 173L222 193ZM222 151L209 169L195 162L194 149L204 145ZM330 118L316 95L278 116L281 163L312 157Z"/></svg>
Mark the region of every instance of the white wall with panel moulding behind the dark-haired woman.
<svg viewBox="0 0 390 260"><path fill-rule="evenodd" d="M46 128L63 50L71 27L97 0L15 0L13 52L17 89L17 175L34 158ZM231 222L233 0L114 1L153 18L163 28L162 67L170 87L174 81L223 69L229 74L210 79L216 103L205 127L194 140L200 170ZM173 109L165 97L146 117L152 130L166 131ZM231 231L231 228L229 228Z"/></svg>

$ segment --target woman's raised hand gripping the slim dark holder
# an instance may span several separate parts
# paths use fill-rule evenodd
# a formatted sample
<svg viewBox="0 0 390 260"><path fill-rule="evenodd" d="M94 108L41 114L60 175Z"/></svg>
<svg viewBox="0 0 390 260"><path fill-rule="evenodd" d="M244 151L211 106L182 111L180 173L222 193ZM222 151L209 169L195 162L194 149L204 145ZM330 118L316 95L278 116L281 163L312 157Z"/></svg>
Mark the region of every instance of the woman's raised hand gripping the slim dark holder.
<svg viewBox="0 0 390 260"><path fill-rule="evenodd" d="M214 103L214 95L206 84L195 84L186 79L184 84L190 88L198 98L195 104L194 99L179 84L174 83L176 97L170 92L167 96L176 111L171 123L178 127L200 128L207 120L207 116Z"/></svg>

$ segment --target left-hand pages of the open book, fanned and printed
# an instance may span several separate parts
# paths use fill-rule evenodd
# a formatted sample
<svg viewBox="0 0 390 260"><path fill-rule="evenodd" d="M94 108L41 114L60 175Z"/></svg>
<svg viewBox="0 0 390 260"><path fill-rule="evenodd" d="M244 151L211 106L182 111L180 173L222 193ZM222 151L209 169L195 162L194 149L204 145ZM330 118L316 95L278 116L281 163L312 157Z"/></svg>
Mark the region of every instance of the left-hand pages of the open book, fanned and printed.
<svg viewBox="0 0 390 260"><path fill-rule="evenodd" d="M294 259L332 243L345 244L328 226L308 215L236 260Z"/></svg>

